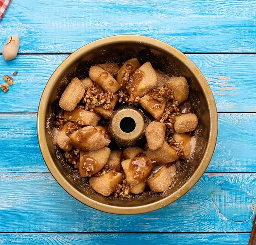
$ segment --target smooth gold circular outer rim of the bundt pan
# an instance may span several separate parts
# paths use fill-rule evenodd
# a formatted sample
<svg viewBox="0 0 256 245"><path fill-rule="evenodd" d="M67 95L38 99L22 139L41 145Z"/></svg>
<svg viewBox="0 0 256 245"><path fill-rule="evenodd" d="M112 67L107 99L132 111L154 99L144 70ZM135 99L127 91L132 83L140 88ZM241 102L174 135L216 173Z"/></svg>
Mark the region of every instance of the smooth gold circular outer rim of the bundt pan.
<svg viewBox="0 0 256 245"><path fill-rule="evenodd" d="M191 74L197 80L198 85L200 86L200 91L204 95L206 99L207 110L209 111L209 134L208 134L208 141L207 146L204 151L204 155L201 159L200 164L194 171L194 173L189 177L189 179L184 183L180 188L178 188L172 194L161 198L160 200L154 201L152 203L148 203L145 205L138 205L138 206L115 206L110 205L106 201L106 203L101 203L97 200L93 200L92 198L82 194L78 188L75 188L68 180L67 177L61 172L61 170L56 165L55 161L52 158L50 153L49 145L47 142L47 110L49 110L49 104L52 102L52 90L56 89L56 83L59 82L61 77L63 77L63 72L67 71L67 68L72 65L76 60L81 59L86 53L91 50L95 50L96 48L101 48L105 45L115 45L115 44L125 44L125 43L138 43L143 44L145 47L154 47L156 50L162 50L165 53L168 53L169 56L175 57L175 59L180 60L181 63L186 66ZM46 165L55 178L55 180L61 185L61 187L67 191L72 197L76 198L77 200L81 201L82 203L93 207L94 209L98 209L108 213L115 213L115 214L139 214L139 213L146 213L151 212L153 210L160 209L162 207L167 206L170 203L178 200L178 198L182 197L189 191L201 178L204 171L206 170L207 166L210 163L212 158L216 139L217 139L217 131L218 131L218 117L217 117L217 110L216 104L213 98L212 91L210 90L209 84L207 83L206 79L204 78L201 71L197 68L197 66L183 53L178 51L176 48L172 47L165 42L159 41L154 38L149 38L146 36L140 35L116 35L116 36L109 36L106 38L98 39L96 41L90 42L89 44L84 45L83 47L76 50L70 56L68 56L56 70L53 72L52 76L50 77L49 81L47 82L43 94L40 99L39 107L38 107L38 114L37 114L37 135L38 135L38 143L40 146L40 150L43 156ZM49 140L48 140L49 141Z"/></svg>

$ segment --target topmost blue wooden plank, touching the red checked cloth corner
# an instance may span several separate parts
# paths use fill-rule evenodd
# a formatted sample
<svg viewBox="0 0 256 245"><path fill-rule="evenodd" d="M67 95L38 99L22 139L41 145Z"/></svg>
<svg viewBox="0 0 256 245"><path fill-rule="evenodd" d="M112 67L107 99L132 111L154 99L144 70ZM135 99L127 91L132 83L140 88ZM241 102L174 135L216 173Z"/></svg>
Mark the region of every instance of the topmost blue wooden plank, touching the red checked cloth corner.
<svg viewBox="0 0 256 245"><path fill-rule="evenodd" d="M140 34L183 52L255 52L255 9L249 0L16 0L0 24L0 47L15 32L23 53L73 52L105 36Z"/></svg>

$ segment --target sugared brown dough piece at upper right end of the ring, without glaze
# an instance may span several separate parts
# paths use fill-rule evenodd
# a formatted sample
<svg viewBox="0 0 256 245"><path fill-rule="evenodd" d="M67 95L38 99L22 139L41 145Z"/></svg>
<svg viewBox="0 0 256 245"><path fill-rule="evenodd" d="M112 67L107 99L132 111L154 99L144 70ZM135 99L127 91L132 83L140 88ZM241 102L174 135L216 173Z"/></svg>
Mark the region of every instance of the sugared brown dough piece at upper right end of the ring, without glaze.
<svg viewBox="0 0 256 245"><path fill-rule="evenodd" d="M166 86L173 91L175 99L181 104L189 96L189 85L184 77L171 77Z"/></svg>

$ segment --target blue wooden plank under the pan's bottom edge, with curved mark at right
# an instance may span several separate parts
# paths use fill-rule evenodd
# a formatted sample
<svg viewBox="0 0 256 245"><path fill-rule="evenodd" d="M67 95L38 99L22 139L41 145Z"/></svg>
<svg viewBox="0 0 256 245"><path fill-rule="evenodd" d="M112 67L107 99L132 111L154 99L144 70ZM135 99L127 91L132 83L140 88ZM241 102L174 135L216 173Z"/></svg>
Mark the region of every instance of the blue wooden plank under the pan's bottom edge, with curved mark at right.
<svg viewBox="0 0 256 245"><path fill-rule="evenodd" d="M256 174L204 174L175 203L122 216L80 203L50 174L0 174L0 232L250 232L255 204Z"/></svg>

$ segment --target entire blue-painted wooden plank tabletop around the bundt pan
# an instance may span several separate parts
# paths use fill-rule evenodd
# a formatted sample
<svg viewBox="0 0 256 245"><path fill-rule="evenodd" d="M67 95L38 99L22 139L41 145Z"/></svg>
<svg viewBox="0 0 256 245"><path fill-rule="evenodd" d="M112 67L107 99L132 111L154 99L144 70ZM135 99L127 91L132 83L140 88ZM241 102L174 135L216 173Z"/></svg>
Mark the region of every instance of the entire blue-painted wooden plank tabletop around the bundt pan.
<svg viewBox="0 0 256 245"><path fill-rule="evenodd" d="M256 1L12 0L0 47L18 32L18 56L0 57L0 245L248 243L256 212ZM52 72L90 41L140 34L183 51L203 72L219 117L206 173L177 202L133 216L79 203L55 182L37 142L38 102Z"/></svg>

